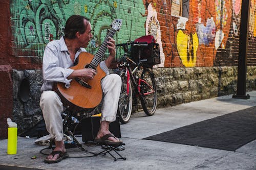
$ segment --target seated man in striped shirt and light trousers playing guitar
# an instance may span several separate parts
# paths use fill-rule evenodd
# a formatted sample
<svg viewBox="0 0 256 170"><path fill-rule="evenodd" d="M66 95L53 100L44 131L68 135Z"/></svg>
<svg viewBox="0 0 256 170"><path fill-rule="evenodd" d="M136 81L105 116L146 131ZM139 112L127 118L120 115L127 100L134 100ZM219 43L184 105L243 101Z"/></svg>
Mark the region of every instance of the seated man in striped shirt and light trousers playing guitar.
<svg viewBox="0 0 256 170"><path fill-rule="evenodd" d="M51 41L45 48L42 61L42 72L44 83L41 87L40 107L44 115L47 131L55 139L55 149L45 159L47 163L56 163L68 157L65 144L62 140L63 127L61 112L62 102L55 91L53 83L62 82L70 87L70 81L74 78L93 79L96 72L92 68L73 70L70 67L81 52L86 52L83 47L87 47L92 38L91 23L83 16L72 15L66 22L65 36L59 40ZM121 78L116 74L109 74L108 67L115 58L115 40L109 38L108 41L109 57L100 62L100 67L107 76L101 80L103 91L102 116L100 129L95 138L96 141L109 144L121 144L122 141L116 138L109 131L109 124L115 121L117 105L121 89Z"/></svg>

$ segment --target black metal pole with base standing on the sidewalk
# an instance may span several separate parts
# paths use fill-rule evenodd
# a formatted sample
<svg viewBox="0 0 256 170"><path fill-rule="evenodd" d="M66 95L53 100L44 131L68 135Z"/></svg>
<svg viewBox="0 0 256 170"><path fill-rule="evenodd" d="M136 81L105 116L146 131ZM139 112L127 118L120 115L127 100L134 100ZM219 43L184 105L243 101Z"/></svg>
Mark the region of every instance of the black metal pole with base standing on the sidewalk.
<svg viewBox="0 0 256 170"><path fill-rule="evenodd" d="M242 0L240 34L239 34L239 56L238 56L238 86L237 94L233 98L250 99L246 93L246 66L247 66L247 40L250 14L250 0Z"/></svg>

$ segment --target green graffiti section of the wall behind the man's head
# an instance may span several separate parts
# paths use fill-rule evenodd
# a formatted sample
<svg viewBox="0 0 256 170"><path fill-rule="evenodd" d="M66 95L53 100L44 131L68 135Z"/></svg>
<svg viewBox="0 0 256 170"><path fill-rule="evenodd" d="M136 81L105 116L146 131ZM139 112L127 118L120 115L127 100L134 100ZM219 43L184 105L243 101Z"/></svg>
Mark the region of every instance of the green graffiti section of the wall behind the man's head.
<svg viewBox="0 0 256 170"><path fill-rule="evenodd" d="M73 14L90 19L93 39L88 47L94 53L105 38L110 23L120 18L122 27L115 35L116 43L124 43L145 35L143 1L69 1L69 0L13 0L11 3L13 41L17 49L37 51L41 57L45 45L64 35L65 22ZM31 54L34 56L35 53Z"/></svg>

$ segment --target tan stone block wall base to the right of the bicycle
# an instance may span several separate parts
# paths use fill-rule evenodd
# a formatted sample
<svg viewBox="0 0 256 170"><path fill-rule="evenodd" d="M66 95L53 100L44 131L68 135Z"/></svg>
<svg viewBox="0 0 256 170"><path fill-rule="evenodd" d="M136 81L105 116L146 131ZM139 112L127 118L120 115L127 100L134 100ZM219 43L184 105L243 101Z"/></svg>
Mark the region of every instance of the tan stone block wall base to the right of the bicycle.
<svg viewBox="0 0 256 170"><path fill-rule="evenodd" d="M236 94L238 67L154 69L158 107ZM247 91L256 89L256 67L247 67Z"/></svg>

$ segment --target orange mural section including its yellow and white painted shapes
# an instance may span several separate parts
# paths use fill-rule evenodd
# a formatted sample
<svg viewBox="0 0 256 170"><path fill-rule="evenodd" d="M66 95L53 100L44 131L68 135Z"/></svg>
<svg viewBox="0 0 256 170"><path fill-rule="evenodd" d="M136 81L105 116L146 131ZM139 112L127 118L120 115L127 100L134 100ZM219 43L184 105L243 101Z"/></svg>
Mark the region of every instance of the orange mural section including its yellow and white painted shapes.
<svg viewBox="0 0 256 170"><path fill-rule="evenodd" d="M184 1L182 14L171 11L177 9L172 8L172 2L177 4L176 1L143 1L146 8L151 4L158 13L165 67L220 65L215 61L228 65L230 57L232 61L237 60L241 0ZM250 7L249 32L254 39L255 0ZM179 13L182 16L177 16Z"/></svg>

